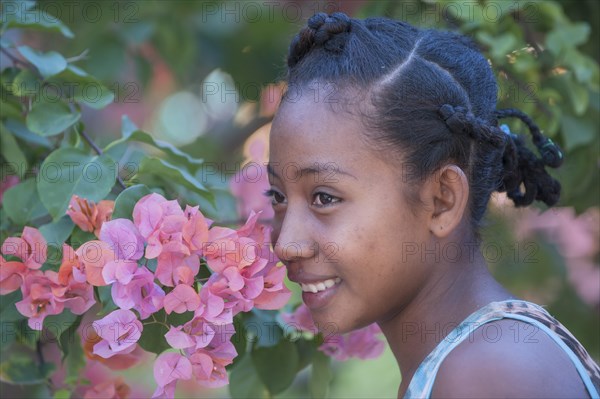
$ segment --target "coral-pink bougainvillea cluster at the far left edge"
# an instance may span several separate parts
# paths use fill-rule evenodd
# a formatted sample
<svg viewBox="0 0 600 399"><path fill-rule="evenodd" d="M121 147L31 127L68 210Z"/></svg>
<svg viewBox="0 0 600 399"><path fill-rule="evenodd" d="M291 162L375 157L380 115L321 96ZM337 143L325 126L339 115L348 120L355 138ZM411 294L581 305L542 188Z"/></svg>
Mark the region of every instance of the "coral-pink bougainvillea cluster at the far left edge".
<svg viewBox="0 0 600 399"><path fill-rule="evenodd" d="M41 330L46 316L60 314L64 309L81 315L94 305L94 289L85 272L76 279L72 273L40 270L47 259L47 244L39 230L25 227L21 237L8 237L2 244L2 255L0 294L21 289L22 299L15 306L28 317L31 329ZM7 261L4 256L19 260ZM73 262L68 263L73 267Z"/></svg>

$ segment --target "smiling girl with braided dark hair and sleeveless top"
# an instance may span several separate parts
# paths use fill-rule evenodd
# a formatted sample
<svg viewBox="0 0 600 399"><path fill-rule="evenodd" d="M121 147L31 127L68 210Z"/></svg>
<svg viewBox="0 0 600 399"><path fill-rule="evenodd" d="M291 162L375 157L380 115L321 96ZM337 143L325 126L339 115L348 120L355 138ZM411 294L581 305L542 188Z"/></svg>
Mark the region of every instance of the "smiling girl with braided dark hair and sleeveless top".
<svg viewBox="0 0 600 399"><path fill-rule="evenodd" d="M317 325L376 322L398 397L598 397L600 370L540 306L488 272L477 226L494 191L559 199L562 153L464 37L316 14L291 43L273 121L275 251ZM524 138L498 127L518 117ZM519 333L520 332L520 333Z"/></svg>

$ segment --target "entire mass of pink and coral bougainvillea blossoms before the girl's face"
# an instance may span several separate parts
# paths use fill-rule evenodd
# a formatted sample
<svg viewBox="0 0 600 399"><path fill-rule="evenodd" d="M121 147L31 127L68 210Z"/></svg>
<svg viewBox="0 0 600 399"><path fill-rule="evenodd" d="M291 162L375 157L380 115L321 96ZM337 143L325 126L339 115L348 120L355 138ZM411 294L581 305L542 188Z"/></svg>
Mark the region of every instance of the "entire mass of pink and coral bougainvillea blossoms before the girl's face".
<svg viewBox="0 0 600 399"><path fill-rule="evenodd" d="M101 209L105 206L73 197L67 213L98 240L77 249L63 244L58 271L42 270L46 241L37 229L26 227L21 237L8 238L2 254L12 258L0 258L0 293L20 288L23 299L17 309L31 328L41 330L46 316L66 308L85 313L96 303L94 287L110 285L118 309L93 321L94 333L83 345L89 359L117 367L136 362L141 320L152 316L149 323L163 323L165 340L179 350L157 358L154 397L173 397L181 379L193 378L207 387L226 385L225 367L237 356L231 343L234 316L254 307L279 309L290 297L269 228L257 223L254 212L237 230L211 226L197 206L183 209L155 193L135 204L133 220L109 220L112 207L107 212ZM199 277L201 261L210 274L205 279ZM167 315L187 312L192 318L168 325L164 314L160 321L154 317L161 310ZM109 383L86 395L114 394L119 386Z"/></svg>

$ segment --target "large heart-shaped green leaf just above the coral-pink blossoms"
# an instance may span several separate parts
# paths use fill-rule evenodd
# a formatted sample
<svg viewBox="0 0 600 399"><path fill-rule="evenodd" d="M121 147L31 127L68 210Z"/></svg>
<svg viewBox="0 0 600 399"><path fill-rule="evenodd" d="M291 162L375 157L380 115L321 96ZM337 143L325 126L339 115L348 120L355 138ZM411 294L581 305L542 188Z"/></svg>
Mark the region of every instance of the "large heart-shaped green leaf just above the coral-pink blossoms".
<svg viewBox="0 0 600 399"><path fill-rule="evenodd" d="M76 194L93 202L103 200L115 184L115 163L106 154L91 156L75 148L60 148L42 163L38 193L56 220Z"/></svg>

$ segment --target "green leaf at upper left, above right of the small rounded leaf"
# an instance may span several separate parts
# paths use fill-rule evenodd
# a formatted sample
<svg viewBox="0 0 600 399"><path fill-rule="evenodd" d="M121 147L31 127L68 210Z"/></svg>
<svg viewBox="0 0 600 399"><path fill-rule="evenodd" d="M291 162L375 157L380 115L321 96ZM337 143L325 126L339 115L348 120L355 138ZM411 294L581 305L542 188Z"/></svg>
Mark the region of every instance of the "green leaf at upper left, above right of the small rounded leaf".
<svg viewBox="0 0 600 399"><path fill-rule="evenodd" d="M49 79L59 87L68 87L68 99L85 104L93 109L102 109L113 102L115 95L98 79L84 70L69 65L67 68Z"/></svg>

